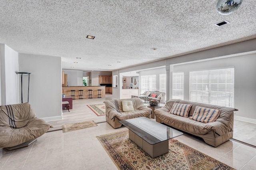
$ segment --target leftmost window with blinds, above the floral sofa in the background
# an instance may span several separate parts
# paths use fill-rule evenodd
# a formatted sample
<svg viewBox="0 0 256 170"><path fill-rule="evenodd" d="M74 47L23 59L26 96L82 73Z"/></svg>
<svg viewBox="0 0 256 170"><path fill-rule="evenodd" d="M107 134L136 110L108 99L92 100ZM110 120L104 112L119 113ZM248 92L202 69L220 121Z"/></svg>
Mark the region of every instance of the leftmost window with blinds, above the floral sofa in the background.
<svg viewBox="0 0 256 170"><path fill-rule="evenodd" d="M140 77L141 86L140 91L144 93L145 91L155 91L156 90L156 75L143 75Z"/></svg>

